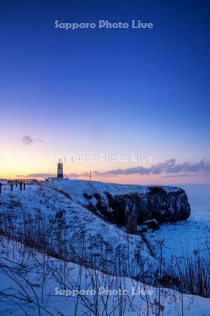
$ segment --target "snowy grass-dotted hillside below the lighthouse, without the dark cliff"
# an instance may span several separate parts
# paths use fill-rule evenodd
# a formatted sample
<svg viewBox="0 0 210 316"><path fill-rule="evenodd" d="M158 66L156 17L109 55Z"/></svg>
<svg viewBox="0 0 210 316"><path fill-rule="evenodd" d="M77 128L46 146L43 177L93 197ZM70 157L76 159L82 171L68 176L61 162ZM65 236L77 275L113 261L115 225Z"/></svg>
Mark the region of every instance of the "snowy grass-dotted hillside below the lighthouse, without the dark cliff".
<svg viewBox="0 0 210 316"><path fill-rule="evenodd" d="M142 237L127 234L82 206L86 185L91 187L92 183L60 183L41 183L22 192L1 195L3 235L52 256L83 262L110 273L116 269L116 260L120 260L120 271L115 273L153 279L156 260ZM125 189L111 185L111 190L121 193ZM134 189L128 186L128 190ZM140 260L146 261L144 267Z"/></svg>

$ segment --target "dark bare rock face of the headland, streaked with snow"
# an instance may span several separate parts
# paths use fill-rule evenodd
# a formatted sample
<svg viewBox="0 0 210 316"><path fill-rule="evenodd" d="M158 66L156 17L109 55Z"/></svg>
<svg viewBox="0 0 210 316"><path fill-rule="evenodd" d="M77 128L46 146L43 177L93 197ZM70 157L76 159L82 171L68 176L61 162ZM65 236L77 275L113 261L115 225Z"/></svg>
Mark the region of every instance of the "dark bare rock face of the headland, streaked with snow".
<svg viewBox="0 0 210 316"><path fill-rule="evenodd" d="M137 225L152 218L161 224L186 220L190 216L186 192L178 187L174 190L168 190L167 187L147 187L144 192L137 190L118 195L104 192L104 195L98 192L90 195L85 192L86 207L116 225L126 226L130 231L137 230Z"/></svg>

